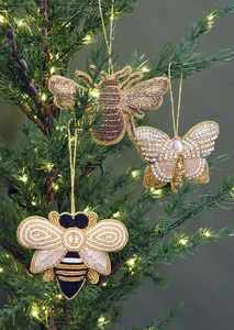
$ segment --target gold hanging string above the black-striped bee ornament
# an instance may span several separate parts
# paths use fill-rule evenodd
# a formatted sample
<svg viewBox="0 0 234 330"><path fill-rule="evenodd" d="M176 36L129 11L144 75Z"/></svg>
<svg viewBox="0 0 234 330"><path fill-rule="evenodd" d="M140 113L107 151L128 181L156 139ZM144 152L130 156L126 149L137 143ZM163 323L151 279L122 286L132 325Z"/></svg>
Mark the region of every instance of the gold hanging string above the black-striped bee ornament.
<svg viewBox="0 0 234 330"><path fill-rule="evenodd" d="M69 147L69 161L70 161L70 212L75 215L76 206L75 206L75 194L74 194L74 185L75 185L75 168L76 168L76 153L77 153L77 129L75 129L74 134L74 151L73 151L73 142L71 142L71 134L70 134L70 123L74 119L71 118L68 121L67 125L67 136L68 136L68 147Z"/></svg>

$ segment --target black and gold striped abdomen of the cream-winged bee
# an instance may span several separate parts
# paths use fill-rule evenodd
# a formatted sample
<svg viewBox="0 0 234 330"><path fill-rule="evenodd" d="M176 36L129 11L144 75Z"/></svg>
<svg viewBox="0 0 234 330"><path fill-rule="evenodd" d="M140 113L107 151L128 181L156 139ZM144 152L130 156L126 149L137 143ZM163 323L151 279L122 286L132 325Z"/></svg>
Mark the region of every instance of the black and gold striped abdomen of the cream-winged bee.
<svg viewBox="0 0 234 330"><path fill-rule="evenodd" d="M77 252L67 252L64 260L54 267L58 285L68 299L81 289L88 271Z"/></svg>

